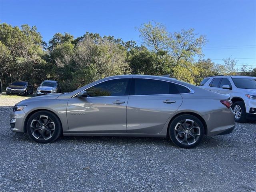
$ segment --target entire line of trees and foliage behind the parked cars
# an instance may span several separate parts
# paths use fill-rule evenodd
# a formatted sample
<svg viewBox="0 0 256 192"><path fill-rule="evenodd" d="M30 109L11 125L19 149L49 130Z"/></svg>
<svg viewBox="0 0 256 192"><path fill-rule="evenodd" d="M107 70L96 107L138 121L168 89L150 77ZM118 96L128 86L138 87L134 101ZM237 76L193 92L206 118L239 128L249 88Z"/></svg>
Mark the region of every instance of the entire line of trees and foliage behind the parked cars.
<svg viewBox="0 0 256 192"><path fill-rule="evenodd" d="M0 79L6 86L14 80L58 80L62 91L75 90L107 76L121 74L166 75L198 85L206 76L236 74L235 58L215 64L202 60L206 37L194 29L168 32L156 22L142 24L138 31L143 44L124 42L113 36L86 32L74 38L56 33L48 42L35 26L20 28L0 24ZM194 58L199 58L197 61ZM256 68L241 68L241 75L256 76Z"/></svg>

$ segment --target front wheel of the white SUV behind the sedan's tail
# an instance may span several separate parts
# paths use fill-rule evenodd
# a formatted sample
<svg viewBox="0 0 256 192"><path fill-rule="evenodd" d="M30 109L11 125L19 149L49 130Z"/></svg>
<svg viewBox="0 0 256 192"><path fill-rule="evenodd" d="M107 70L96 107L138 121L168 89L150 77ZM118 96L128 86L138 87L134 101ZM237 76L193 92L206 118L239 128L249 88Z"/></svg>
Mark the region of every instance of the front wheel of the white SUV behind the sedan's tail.
<svg viewBox="0 0 256 192"><path fill-rule="evenodd" d="M235 120L239 123L245 123L246 122L246 109L244 106L244 102L242 101L236 101L232 105L232 110L235 114Z"/></svg>

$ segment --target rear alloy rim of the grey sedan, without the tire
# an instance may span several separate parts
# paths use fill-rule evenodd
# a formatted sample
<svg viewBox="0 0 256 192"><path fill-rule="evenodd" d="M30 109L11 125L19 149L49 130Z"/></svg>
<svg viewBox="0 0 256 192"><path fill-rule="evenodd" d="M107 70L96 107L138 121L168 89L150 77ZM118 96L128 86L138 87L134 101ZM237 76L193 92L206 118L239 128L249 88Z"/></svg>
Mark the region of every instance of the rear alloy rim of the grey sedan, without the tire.
<svg viewBox="0 0 256 192"><path fill-rule="evenodd" d="M199 125L191 119L181 120L174 128L176 140L184 145L192 145L196 143L200 134Z"/></svg>

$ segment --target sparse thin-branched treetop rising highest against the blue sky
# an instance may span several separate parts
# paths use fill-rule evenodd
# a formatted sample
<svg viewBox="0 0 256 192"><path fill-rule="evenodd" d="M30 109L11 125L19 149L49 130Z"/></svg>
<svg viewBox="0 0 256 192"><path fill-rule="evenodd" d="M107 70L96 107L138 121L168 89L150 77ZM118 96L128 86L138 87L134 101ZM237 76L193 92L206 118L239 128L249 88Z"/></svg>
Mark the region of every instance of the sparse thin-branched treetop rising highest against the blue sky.
<svg viewBox="0 0 256 192"><path fill-rule="evenodd" d="M138 30L143 43L148 48L157 52L166 51L177 62L202 56L202 46L207 42L206 37L195 34L193 28L170 33L163 24L148 22L142 24Z"/></svg>

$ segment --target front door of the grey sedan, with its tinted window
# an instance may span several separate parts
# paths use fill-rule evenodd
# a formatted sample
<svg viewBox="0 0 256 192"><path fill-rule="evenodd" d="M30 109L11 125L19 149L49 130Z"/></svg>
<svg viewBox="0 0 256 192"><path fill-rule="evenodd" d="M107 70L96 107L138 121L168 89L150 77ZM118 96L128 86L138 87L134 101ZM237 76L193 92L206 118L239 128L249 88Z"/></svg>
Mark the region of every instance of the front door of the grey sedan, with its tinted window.
<svg viewBox="0 0 256 192"><path fill-rule="evenodd" d="M126 133L126 106L130 78L118 78L88 89L87 98L70 98L67 106L70 132Z"/></svg>

